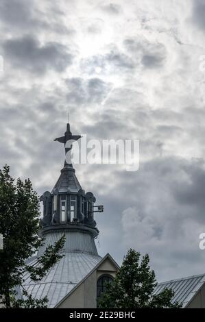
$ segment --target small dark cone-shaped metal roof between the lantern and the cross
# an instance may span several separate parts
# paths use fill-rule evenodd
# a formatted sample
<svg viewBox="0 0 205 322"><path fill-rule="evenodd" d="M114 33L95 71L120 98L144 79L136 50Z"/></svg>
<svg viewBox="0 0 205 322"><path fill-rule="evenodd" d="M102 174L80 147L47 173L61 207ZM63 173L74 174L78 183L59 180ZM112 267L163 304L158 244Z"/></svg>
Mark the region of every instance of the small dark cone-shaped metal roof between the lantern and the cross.
<svg viewBox="0 0 205 322"><path fill-rule="evenodd" d="M64 167L64 169L61 170L60 177L58 178L58 181L56 182L52 193L56 189L59 193L67 193L68 188L71 193L78 193L78 191L82 189L75 175L75 169L69 166Z"/></svg>

